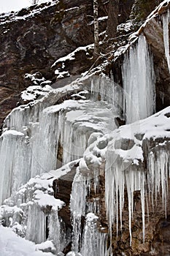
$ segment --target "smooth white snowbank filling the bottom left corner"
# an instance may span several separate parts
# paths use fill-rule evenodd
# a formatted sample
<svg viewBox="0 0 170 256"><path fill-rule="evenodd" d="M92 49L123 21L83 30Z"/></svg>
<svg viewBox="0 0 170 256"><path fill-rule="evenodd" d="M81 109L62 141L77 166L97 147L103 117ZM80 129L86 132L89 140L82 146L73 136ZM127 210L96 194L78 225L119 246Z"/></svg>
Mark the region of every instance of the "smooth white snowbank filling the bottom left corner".
<svg viewBox="0 0 170 256"><path fill-rule="evenodd" d="M0 256L53 256L39 251L35 244L17 236L12 230L0 225Z"/></svg>

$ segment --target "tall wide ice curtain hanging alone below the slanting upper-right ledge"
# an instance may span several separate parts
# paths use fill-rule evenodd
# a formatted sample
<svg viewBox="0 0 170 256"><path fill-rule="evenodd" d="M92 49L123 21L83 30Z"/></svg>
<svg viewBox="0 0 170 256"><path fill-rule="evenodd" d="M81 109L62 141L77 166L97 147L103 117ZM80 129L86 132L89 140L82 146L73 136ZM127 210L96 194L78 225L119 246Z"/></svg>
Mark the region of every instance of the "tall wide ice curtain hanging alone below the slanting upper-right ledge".
<svg viewBox="0 0 170 256"><path fill-rule="evenodd" d="M139 36L123 61L123 113L126 123L151 116L155 112L155 73L147 41Z"/></svg>

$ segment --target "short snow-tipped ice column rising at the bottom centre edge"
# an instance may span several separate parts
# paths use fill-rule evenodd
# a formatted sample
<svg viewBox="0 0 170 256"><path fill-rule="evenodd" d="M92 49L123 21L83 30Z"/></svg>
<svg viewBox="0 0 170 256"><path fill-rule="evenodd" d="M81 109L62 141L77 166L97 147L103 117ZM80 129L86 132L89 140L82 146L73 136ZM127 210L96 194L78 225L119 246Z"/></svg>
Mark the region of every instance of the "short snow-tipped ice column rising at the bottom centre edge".
<svg viewBox="0 0 170 256"><path fill-rule="evenodd" d="M82 237L81 255L86 256L107 256L106 234L98 233L95 214L89 213L86 216L86 223Z"/></svg>

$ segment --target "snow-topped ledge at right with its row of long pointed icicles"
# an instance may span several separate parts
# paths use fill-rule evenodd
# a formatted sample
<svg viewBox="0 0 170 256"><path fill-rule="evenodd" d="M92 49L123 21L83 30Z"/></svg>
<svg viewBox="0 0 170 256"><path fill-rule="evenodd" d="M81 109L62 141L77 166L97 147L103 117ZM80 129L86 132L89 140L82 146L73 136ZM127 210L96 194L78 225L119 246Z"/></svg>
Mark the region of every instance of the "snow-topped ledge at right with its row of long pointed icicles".
<svg viewBox="0 0 170 256"><path fill-rule="evenodd" d="M122 227L122 213L124 205L125 189L128 193L129 232L131 236L131 219L134 211L134 192L140 191L142 203L142 222L144 239L144 202L151 200L154 206L158 194L162 195L166 212L166 197L169 178L169 140L162 145L157 142L160 138L169 138L169 108L150 116L147 119L120 127L119 132L113 132L110 136L106 154L105 189L106 206L110 233L112 225L116 224L118 231L118 219ZM139 135L142 135L139 136ZM120 140L121 138L121 140ZM147 167L144 162L144 143L152 139L155 141L155 151L148 151ZM127 147L127 141L128 147ZM131 143L130 143L131 142ZM149 150L149 149L148 149ZM113 186L114 184L114 186Z"/></svg>

